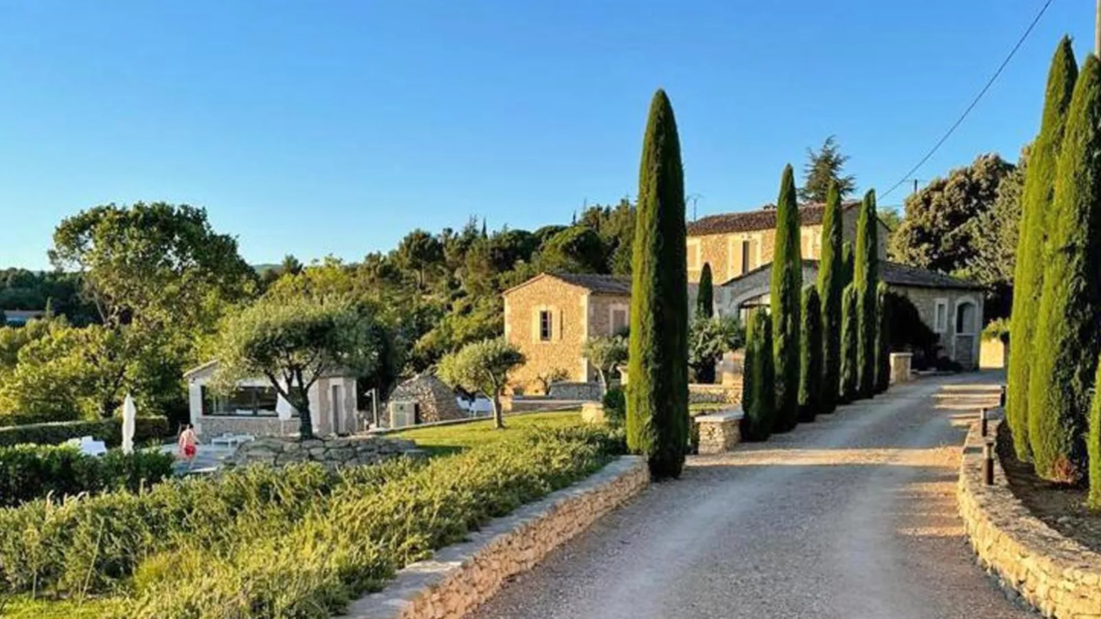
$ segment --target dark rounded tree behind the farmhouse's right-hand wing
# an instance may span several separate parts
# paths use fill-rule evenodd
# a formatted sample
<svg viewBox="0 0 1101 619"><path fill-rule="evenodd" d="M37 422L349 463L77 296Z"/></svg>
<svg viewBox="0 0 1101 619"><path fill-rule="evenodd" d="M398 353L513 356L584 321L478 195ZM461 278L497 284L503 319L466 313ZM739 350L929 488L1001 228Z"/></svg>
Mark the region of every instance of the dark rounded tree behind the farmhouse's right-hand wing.
<svg viewBox="0 0 1101 619"><path fill-rule="evenodd" d="M891 259L942 273L971 267L975 239L990 234L979 228L979 216L993 208L998 187L1012 172L1012 163L984 154L908 196L906 217L887 243Z"/></svg>

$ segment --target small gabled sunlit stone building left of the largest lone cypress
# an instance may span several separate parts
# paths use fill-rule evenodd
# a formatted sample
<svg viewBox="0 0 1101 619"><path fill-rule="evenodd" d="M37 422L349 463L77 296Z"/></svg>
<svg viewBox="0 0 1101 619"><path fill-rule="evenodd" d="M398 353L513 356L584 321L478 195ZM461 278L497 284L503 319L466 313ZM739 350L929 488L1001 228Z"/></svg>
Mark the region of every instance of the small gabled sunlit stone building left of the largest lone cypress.
<svg viewBox="0 0 1101 619"><path fill-rule="evenodd" d="M504 337L527 359L510 377L510 384L524 391L539 389L539 377L556 372L567 381L596 380L584 355L585 343L630 324L629 278L542 273L503 295Z"/></svg>

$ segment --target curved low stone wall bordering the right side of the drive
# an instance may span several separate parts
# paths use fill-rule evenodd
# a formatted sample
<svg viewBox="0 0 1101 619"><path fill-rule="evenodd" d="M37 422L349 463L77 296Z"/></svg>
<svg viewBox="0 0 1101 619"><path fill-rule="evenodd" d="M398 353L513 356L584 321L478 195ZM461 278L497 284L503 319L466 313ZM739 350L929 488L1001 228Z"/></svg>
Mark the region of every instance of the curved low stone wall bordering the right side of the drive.
<svg viewBox="0 0 1101 619"><path fill-rule="evenodd" d="M1001 422L990 422L996 436ZM1064 537L1034 517L1010 490L994 459L994 485L983 484L983 437L971 426L963 447L960 515L979 563L1006 595L1022 597L1045 617L1101 618L1101 555Z"/></svg>

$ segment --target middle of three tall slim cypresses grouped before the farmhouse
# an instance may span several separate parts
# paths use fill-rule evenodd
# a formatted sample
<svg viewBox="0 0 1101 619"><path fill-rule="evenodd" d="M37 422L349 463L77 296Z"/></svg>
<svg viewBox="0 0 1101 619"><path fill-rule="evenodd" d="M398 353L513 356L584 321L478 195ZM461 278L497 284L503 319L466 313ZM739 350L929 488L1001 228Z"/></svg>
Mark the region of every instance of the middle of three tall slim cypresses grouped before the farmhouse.
<svg viewBox="0 0 1101 619"><path fill-rule="evenodd" d="M841 384L841 294L844 292L844 265L841 256L841 195L837 183L829 187L822 214L821 261L818 264L818 296L822 311L821 410L837 408L837 385Z"/></svg>

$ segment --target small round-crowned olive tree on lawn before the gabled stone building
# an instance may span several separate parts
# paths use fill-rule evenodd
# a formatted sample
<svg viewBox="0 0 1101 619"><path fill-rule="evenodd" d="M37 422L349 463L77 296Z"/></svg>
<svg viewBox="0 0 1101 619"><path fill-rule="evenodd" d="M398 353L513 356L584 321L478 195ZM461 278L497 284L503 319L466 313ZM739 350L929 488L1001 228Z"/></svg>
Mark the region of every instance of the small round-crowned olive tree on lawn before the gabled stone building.
<svg viewBox="0 0 1101 619"><path fill-rule="evenodd" d="M503 338L484 339L464 346L439 361L439 378L453 387L481 393L493 404L493 427L504 427L501 392L509 372L524 365L524 356Z"/></svg>

